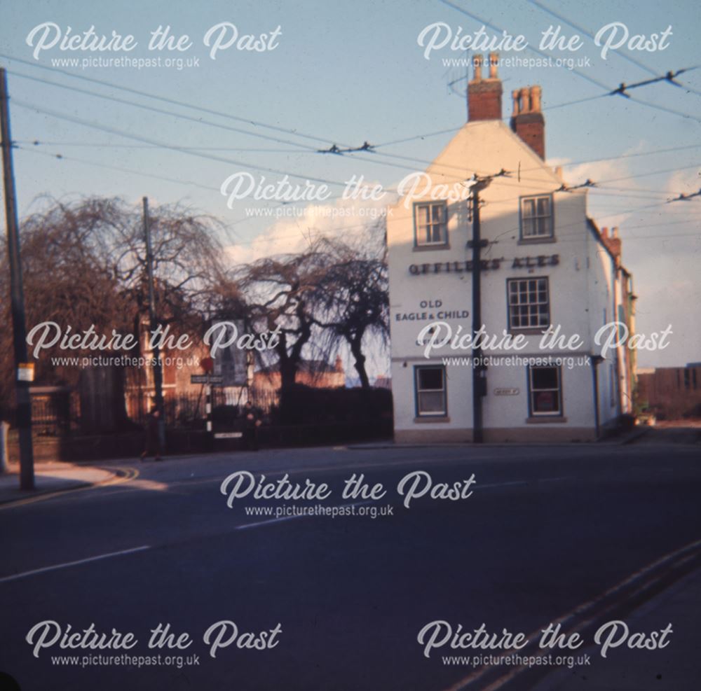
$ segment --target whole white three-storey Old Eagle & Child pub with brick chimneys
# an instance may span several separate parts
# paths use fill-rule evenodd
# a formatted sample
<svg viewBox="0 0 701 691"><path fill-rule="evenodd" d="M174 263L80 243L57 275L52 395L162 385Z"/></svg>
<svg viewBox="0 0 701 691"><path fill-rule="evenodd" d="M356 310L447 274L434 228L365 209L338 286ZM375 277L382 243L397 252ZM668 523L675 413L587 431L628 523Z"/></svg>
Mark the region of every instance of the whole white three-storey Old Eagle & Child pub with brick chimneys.
<svg viewBox="0 0 701 691"><path fill-rule="evenodd" d="M632 412L618 229L599 230L587 189L545 165L540 87L512 92L503 121L496 60L486 76L475 57L468 122L388 209L397 442L587 441Z"/></svg>

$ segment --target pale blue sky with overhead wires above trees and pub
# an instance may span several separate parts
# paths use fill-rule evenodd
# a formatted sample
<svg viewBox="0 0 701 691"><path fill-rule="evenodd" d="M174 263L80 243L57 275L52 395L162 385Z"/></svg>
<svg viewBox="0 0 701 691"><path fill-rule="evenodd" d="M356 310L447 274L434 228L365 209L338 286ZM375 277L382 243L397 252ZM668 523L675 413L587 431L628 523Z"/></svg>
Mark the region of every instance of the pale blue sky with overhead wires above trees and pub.
<svg viewBox="0 0 701 691"><path fill-rule="evenodd" d="M526 0L451 2L484 22L511 34L523 34L534 47L538 45L540 32L550 25L562 25L566 36L579 33ZM574 56L587 57L592 64L581 67L580 72L611 89L621 82L634 83L649 78L650 71L664 74L701 64L697 48L701 22L693 1L672 4L566 1L556 4L553 0L543 0L543 4L592 32L610 22L622 22L631 36L649 36L672 26L669 47L665 50L642 52L620 48L606 60L601 59L594 41L583 35L584 46ZM20 142L21 147L15 153L20 214L39 208L42 202L37 201L37 197L43 194L53 197L119 195L133 203L139 202L143 195L161 203L182 200L219 216L229 225L224 240L238 246L238 254L236 251L232 254L238 258L254 256L252 248L261 237L270 239L268 248L289 249L289 243L297 242L305 229L299 227L299 221L278 221L271 225L270 220L263 218L245 218L245 207L251 206L249 202L238 202L233 209L227 208L225 198L217 191L227 176L254 165L302 178L339 182L353 174L364 174L366 179L390 188L409 170L423 167L416 160L433 159L451 135L412 139L379 148L386 154L414 159L412 162L373 157L368 153L343 157L320 155L313 149L334 143L384 144L418 134L457 130L465 122L465 99L460 93L465 82L458 81L452 87L449 83L459 79L464 69L447 67L442 58L464 57L465 53L437 50L426 60L416 39L421 30L433 22L445 22L453 32L462 27L463 33L474 32L482 25L481 21L440 1L353 4L212 1L195 4L180 0L149 3L5 0L2 15L0 53L34 63L30 66L0 58L10 71L13 139ZM295 130L324 141L301 139L288 132L273 132L221 116L152 102L145 97L39 69L36 65L50 66L55 58L81 59L97 55L52 48L43 51L35 61L25 39L43 22L55 22L63 34L67 27L76 33L94 25L97 34L109 35L114 29L118 34L132 34L138 41L131 53L100 54L103 57L156 57L157 53L147 50L149 32L158 25L170 25L172 34L188 34L193 41L193 46L177 54L178 57L197 57L198 67L182 70L167 67L63 69L283 130ZM240 34L269 33L279 26L278 46L268 52L254 53L231 48L211 60L203 46L203 36L219 22L232 22ZM487 32L495 33L489 27ZM622 54L639 61L648 71L632 64ZM529 50L518 55L537 57ZM563 54L554 52L552 55ZM168 54L161 53L161 57L168 57ZM503 53L502 57L509 56ZM183 120L173 114L144 111L132 104L110 102L94 93L72 92L29 81L20 75L149 104L194 119L204 118L221 127ZM701 123L698 119L701 117L701 69L679 77L697 93L660 83L631 92L648 105L610 96L550 110L549 106L601 95L604 90L586 77L557 67L503 68L501 78L505 115L510 112L510 99L506 97L510 90L533 83L543 87L549 161L572 163L609 159L566 166L566 179L571 183L581 182L586 177L620 179L618 183L609 183L608 191L590 195L590 212L600 220L600 225L620 225L624 261L634 272L640 295L639 329L660 330L667 323L672 323L674 328L669 349L641 353L641 364L680 365L686 361L701 361L701 327L697 319L690 319L688 312L689 305L697 304L700 292L697 265L701 251L698 235L701 199L662 204L673 194L690 193L701 186ZM173 146L196 147L205 155L237 163L206 160L182 151L147 146L114 133L37 113L20 106L19 102L130 132L136 137ZM693 118L663 112L649 104ZM256 138L226 127L238 127L284 141ZM33 146L32 141L42 144ZM301 150L301 146L308 150ZM686 146L689 147L686 150L680 148ZM676 151L630 156L664 148ZM64 158L52 158L55 154ZM610 160L619 155L625 158ZM85 161L187 183L87 165ZM658 171L664 172L647 175ZM270 179L280 177L263 174ZM334 188L334 192L337 191L339 189ZM660 203L641 209L650 207L653 202Z"/></svg>

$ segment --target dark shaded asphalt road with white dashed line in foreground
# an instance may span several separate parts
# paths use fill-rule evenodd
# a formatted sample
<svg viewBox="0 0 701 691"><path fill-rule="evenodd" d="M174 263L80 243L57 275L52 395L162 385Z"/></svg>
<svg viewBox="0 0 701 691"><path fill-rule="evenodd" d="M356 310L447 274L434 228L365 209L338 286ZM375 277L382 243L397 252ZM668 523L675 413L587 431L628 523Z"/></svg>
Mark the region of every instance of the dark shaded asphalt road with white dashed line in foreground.
<svg viewBox="0 0 701 691"><path fill-rule="evenodd" d="M23 691L511 690L545 687L568 666L580 681L596 677L585 685L592 689L639 691L626 685L632 667L660 690L698 687L698 608L669 622L664 607L648 615L646 640L672 624L662 650L625 641L604 658L600 646L587 647L608 621L634 633L641 607L701 564L697 447L296 449L131 465L139 475L123 484L0 508L0 671ZM220 487L240 470L268 482L289 472L292 483L326 483L332 494L249 494L229 508ZM411 483L417 493L428 483L411 475L400 496L400 481L416 471L437 493L457 482L472 494L453 501L429 490L406 508ZM386 495L343 498L353 473ZM280 515L317 505L355 515ZM360 515L371 510L391 515ZM436 621L447 624L428 626L421 645L419 631ZM218 622L234 622L236 638ZM587 645L538 648L551 622ZM61 647L81 643L64 636L69 625L72 634L90 624L137 642ZM149 648L158 624L170 624L172 645L184 632L191 643ZM438 645L448 625L465 633L481 624L489 634L526 634L523 664L475 662L505 655L499 648ZM247 647L255 645L263 649ZM535 662L548 653L559 664ZM117 664L125 655L142 666ZM670 655L687 656L693 673L662 676Z"/></svg>

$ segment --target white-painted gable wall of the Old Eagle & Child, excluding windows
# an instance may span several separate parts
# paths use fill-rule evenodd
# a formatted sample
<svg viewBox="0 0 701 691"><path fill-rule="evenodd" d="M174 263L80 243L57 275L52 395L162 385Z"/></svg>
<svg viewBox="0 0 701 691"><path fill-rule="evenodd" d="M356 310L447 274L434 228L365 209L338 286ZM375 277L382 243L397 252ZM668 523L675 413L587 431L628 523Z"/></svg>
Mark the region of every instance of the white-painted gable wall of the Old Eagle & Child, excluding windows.
<svg viewBox="0 0 701 691"><path fill-rule="evenodd" d="M611 268L608 254L587 227L586 192L553 194L554 242L519 242L519 197L553 193L562 181L545 166L505 123L497 120L467 123L428 168L432 190L419 200L430 200L437 186L458 186L473 173L495 174L500 169L512 175L497 178L480 194L482 237L491 243L482 251L487 260L503 258L501 268L482 272L482 321L489 334L501 336L508 329L507 286L509 278L547 276L550 284L550 319L562 327L567 336L579 334L582 343L576 351L552 351L552 356L567 356L575 363L562 366L563 412L566 422L538 424L543 435L548 428L593 428L594 403L592 372L588 355L597 352L593 336L602 325L604 309L611 318L613 304ZM436 194L440 197L440 194ZM470 366L447 365L448 421L415 421L414 366L440 364L443 356L469 356L470 351L449 346L435 351L429 359L416 342L421 328L431 321L442 320L453 333L471 330L470 272L435 273L435 263L461 262L472 258L466 246L472 237L468 219L468 202L448 204L447 249L414 248L413 201L407 196L388 209L388 245L390 276L390 319L392 344L392 382L395 405L395 429L444 431L472 428L472 369ZM551 256L557 254L555 266L533 269L513 268L515 257ZM607 267L607 261L609 263ZM412 275L409 265L428 265L428 273ZM470 312L469 316L462 316ZM458 316L444 318L445 312ZM409 315L411 318L402 319ZM519 352L489 351L485 354L540 356L540 335L529 335L528 346ZM580 365L581 361L585 365ZM533 428L528 418L528 386L526 367L495 366L487 372L488 396L484 398L484 428ZM610 377L599 368L600 420L611 419L614 412L608 405ZM516 396L496 396L494 389L519 389ZM606 405L604 405L606 403Z"/></svg>

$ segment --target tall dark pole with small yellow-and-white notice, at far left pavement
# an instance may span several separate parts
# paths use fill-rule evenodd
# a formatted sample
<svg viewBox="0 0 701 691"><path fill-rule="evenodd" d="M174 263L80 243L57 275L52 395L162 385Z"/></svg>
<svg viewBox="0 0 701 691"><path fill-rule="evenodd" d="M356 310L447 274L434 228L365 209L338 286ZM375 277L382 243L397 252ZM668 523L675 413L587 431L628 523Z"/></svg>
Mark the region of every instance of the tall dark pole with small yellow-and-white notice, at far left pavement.
<svg viewBox="0 0 701 691"><path fill-rule="evenodd" d="M10 295L12 309L13 345L15 351L15 396L17 398L17 428L20 435L20 489L34 489L34 451L32 449L32 399L29 382L34 366L27 363L27 328L25 326L25 295L22 288L20 263L20 232L17 221L15 174L12 164L12 137L8 107L7 75L0 67L0 136L5 183L5 217L7 223L8 261L10 263Z"/></svg>

